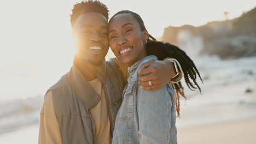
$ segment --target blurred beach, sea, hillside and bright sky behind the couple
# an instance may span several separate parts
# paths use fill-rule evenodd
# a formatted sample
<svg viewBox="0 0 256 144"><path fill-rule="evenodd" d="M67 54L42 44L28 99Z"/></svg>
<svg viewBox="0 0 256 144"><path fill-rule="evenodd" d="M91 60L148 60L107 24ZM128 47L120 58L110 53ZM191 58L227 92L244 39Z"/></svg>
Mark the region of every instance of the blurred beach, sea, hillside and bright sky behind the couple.
<svg viewBox="0 0 256 144"><path fill-rule="evenodd" d="M46 90L71 68L69 15L80 1L0 2L0 143L37 143ZM256 143L256 2L110 1L194 60L203 83L185 86L178 143ZM114 57L111 51L106 59Z"/></svg>

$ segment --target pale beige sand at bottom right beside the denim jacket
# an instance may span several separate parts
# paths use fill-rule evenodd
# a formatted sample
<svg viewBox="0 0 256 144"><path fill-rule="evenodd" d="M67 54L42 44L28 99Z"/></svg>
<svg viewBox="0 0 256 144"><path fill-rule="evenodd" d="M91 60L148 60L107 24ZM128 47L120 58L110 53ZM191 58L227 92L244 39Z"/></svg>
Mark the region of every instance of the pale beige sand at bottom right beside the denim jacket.
<svg viewBox="0 0 256 144"><path fill-rule="evenodd" d="M178 129L179 144L256 143L256 117Z"/></svg>

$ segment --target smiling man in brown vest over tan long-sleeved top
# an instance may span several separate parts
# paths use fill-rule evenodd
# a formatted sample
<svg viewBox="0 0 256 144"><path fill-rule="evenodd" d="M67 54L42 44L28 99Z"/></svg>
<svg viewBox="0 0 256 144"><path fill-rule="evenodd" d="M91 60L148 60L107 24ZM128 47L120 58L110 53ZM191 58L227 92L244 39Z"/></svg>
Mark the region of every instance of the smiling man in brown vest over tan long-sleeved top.
<svg viewBox="0 0 256 144"><path fill-rule="evenodd" d="M40 112L39 143L111 142L125 79L117 63L104 61L109 49L107 21L108 9L101 2L74 5L71 15L76 44L73 66L46 92ZM167 67L173 67L171 62L166 63ZM147 63L144 67L154 64ZM172 76L176 75L173 68L170 71ZM158 87L152 88L147 85L148 80L141 83L146 90L165 85L165 82L155 83Z"/></svg>

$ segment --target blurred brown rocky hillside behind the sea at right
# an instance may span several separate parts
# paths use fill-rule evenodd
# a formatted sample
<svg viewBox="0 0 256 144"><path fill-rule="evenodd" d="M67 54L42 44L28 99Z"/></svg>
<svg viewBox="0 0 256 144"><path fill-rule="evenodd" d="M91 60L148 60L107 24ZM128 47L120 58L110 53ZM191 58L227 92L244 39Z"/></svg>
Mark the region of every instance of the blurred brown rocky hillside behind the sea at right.
<svg viewBox="0 0 256 144"><path fill-rule="evenodd" d="M181 48L193 43L189 49L202 41L200 53L221 58L256 56L256 7L232 20L212 21L199 27L167 27L162 40Z"/></svg>

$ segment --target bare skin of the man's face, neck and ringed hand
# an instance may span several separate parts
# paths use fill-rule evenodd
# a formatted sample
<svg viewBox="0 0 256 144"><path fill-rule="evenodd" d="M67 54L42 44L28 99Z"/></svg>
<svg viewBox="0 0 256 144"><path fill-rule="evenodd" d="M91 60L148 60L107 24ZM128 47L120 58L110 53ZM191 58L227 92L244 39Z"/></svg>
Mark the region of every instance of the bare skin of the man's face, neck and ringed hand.
<svg viewBox="0 0 256 144"><path fill-rule="evenodd" d="M78 17L72 29L76 44L74 64L88 81L97 78L96 68L107 55L107 27L108 23L103 15L86 13ZM139 82L142 89L152 91L164 87L174 75L176 71L172 62L149 61L139 71ZM153 86L148 85L148 80L152 80Z"/></svg>

